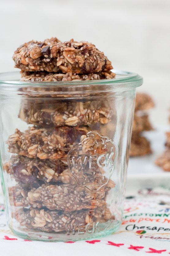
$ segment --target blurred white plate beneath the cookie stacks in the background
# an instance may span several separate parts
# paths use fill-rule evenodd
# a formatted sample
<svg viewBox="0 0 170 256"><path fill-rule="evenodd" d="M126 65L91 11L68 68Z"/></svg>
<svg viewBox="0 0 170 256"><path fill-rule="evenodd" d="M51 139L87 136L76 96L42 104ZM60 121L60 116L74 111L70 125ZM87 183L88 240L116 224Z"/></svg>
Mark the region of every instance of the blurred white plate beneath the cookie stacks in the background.
<svg viewBox="0 0 170 256"><path fill-rule="evenodd" d="M154 163L165 150L165 131L168 130L170 130L169 126L157 126L155 130L144 133L144 136L151 142L153 154L129 159L127 194L138 188L170 187L170 172L163 171Z"/></svg>

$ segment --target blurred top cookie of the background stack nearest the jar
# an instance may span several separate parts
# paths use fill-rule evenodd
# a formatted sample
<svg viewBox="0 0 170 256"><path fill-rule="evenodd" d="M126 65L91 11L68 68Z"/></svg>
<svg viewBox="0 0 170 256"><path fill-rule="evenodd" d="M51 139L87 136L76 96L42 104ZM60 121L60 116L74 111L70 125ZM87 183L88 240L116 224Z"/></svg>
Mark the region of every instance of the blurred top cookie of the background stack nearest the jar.
<svg viewBox="0 0 170 256"><path fill-rule="evenodd" d="M153 99L146 93L137 93L135 111L148 110L154 107Z"/></svg>

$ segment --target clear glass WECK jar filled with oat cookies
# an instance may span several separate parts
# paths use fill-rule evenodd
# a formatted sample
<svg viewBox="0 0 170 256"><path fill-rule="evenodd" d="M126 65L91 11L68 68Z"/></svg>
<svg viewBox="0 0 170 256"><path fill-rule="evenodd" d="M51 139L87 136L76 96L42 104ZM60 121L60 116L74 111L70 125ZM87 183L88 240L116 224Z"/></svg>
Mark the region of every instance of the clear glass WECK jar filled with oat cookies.
<svg viewBox="0 0 170 256"><path fill-rule="evenodd" d="M0 75L1 180L14 234L75 241L121 225L142 78L114 72L115 79L81 82Z"/></svg>

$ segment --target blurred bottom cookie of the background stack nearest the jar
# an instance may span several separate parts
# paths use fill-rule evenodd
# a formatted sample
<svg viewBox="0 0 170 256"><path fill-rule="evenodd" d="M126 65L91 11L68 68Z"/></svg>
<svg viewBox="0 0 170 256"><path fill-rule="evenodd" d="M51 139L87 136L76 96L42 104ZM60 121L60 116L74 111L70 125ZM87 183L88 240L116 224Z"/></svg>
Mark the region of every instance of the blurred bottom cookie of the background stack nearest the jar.
<svg viewBox="0 0 170 256"><path fill-rule="evenodd" d="M130 156L143 156L151 153L150 142L140 134L132 134Z"/></svg>

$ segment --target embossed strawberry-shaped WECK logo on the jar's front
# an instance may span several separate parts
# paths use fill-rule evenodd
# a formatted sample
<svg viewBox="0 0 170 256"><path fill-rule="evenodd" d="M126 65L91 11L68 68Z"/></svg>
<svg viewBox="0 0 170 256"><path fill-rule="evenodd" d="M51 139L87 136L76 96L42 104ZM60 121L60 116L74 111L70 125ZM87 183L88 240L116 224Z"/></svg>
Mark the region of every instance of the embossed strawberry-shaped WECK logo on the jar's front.
<svg viewBox="0 0 170 256"><path fill-rule="evenodd" d="M69 173L78 186L96 192L105 186L116 165L118 146L107 136L90 131L67 155Z"/></svg>

